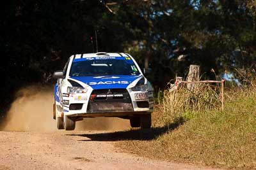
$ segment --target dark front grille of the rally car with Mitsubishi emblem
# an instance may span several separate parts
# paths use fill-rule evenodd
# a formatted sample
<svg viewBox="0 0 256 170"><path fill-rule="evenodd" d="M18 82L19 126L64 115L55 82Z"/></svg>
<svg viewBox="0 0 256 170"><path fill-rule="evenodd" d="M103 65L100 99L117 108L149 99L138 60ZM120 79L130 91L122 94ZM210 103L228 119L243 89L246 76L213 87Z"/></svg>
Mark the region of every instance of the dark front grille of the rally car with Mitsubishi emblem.
<svg viewBox="0 0 256 170"><path fill-rule="evenodd" d="M126 89L93 90L87 107L88 113L133 111L131 97Z"/></svg>

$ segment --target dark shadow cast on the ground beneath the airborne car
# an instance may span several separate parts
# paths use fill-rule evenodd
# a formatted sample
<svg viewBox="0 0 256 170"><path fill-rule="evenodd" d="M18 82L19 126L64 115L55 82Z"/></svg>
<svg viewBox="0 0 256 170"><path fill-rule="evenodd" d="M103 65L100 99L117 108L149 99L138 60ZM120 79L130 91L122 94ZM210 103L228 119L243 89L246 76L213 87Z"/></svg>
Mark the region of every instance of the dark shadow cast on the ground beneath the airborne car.
<svg viewBox="0 0 256 170"><path fill-rule="evenodd" d="M151 129L131 129L129 131L104 132L96 134L67 134L67 136L82 136L86 138L79 141L152 140L158 136L161 136L161 134L173 131L182 124L184 124L184 120L179 118L179 120L164 127L152 127Z"/></svg>

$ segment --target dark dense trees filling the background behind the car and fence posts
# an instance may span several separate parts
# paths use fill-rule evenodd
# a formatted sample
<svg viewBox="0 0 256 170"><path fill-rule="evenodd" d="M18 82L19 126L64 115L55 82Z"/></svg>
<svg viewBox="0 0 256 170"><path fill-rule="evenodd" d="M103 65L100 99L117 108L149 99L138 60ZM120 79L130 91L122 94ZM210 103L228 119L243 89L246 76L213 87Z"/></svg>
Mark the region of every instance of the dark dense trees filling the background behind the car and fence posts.
<svg viewBox="0 0 256 170"><path fill-rule="evenodd" d="M99 51L128 52L151 67L156 88L186 74L189 64L199 64L208 78L211 69L254 67L255 7L255 0L6 1L0 94L48 81L70 55L95 51L95 31Z"/></svg>

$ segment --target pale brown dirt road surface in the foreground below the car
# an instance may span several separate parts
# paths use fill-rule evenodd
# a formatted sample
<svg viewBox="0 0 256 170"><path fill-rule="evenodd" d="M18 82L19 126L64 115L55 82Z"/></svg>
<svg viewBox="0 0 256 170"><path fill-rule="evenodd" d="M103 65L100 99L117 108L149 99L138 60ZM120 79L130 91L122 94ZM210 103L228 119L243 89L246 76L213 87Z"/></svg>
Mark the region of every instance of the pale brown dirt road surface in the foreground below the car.
<svg viewBox="0 0 256 170"><path fill-rule="evenodd" d="M0 131L0 137L0 169L202 169L123 153L109 131Z"/></svg>

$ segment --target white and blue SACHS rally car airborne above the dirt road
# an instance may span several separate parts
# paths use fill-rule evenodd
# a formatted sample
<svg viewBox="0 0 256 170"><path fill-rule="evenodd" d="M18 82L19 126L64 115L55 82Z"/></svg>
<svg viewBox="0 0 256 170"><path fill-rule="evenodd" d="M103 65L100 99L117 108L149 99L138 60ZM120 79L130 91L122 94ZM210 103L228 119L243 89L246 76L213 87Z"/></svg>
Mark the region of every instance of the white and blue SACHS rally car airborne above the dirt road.
<svg viewBox="0 0 256 170"><path fill-rule="evenodd" d="M72 55L53 77L58 78L53 104L58 129L72 131L86 117L127 118L131 127L151 127L153 89L131 55Z"/></svg>

